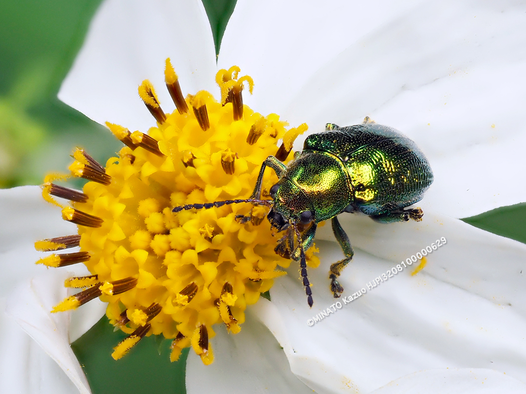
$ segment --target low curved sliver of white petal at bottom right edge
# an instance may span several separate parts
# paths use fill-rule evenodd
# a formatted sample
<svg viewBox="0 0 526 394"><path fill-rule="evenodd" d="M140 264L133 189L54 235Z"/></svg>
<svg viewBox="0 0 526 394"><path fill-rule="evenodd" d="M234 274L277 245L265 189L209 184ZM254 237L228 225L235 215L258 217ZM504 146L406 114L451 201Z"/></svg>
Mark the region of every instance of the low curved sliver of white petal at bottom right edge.
<svg viewBox="0 0 526 394"><path fill-rule="evenodd" d="M526 385L491 369L431 369L390 382L371 394L490 394L524 393Z"/></svg>

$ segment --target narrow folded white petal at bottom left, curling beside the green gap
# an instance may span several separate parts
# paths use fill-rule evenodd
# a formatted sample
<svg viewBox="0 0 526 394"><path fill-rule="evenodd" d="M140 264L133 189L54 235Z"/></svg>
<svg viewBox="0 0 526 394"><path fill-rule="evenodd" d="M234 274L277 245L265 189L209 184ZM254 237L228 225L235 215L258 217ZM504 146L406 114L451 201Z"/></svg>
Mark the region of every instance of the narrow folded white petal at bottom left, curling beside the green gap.
<svg viewBox="0 0 526 394"><path fill-rule="evenodd" d="M50 310L67 296L64 279L69 274L48 272L17 286L7 300L6 312L57 362L80 393L90 393L84 372L69 346L69 314ZM35 374L46 370L31 371Z"/></svg>

